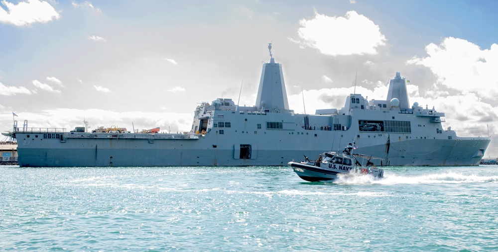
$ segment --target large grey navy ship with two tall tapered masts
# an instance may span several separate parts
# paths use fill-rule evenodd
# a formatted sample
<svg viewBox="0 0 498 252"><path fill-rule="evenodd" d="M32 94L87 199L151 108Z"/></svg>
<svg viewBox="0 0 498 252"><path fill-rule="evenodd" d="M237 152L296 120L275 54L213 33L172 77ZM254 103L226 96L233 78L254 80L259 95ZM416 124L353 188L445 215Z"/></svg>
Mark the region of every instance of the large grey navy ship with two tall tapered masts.
<svg viewBox="0 0 498 252"><path fill-rule="evenodd" d="M286 166L289 161L339 151L380 157L384 166L478 166L491 139L459 137L444 129L445 114L410 105L405 78L389 81L386 100L358 93L344 107L313 114L289 108L282 65L263 63L256 103L203 102L189 132L86 132L84 127L22 128L3 133L17 141L20 167ZM375 164L380 165L380 164Z"/></svg>

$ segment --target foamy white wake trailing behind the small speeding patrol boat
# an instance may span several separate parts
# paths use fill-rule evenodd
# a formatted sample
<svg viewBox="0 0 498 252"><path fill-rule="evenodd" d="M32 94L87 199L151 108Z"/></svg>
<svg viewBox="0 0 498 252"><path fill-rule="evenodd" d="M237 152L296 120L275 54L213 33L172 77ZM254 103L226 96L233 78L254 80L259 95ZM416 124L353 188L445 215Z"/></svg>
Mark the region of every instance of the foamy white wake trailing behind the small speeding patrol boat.
<svg viewBox="0 0 498 252"><path fill-rule="evenodd" d="M443 172L423 174L418 176L403 176L384 174L384 178L375 179L372 176L338 176L334 183L340 184L430 184L430 183L498 183L498 175L461 174Z"/></svg>

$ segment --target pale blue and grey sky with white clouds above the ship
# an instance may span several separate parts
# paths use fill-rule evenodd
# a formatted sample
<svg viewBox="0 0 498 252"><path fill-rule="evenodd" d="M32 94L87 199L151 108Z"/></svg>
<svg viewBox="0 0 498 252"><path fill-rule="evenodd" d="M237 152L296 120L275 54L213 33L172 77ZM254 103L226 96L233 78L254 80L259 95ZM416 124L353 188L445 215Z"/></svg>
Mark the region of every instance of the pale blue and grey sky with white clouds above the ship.
<svg viewBox="0 0 498 252"><path fill-rule="evenodd" d="M0 131L190 131L200 102L255 104L262 63L282 64L296 113L386 99L445 113L498 156L495 0L0 0ZM304 103L303 103L304 98ZM15 113L14 116L12 113Z"/></svg>

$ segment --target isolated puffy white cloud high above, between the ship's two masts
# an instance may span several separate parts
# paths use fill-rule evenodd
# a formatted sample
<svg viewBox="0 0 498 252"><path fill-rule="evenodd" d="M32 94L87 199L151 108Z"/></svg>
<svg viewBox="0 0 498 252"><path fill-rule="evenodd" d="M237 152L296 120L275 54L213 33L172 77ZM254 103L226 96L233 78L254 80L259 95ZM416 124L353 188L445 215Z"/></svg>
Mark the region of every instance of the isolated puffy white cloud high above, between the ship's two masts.
<svg viewBox="0 0 498 252"><path fill-rule="evenodd" d="M313 19L301 19L300 24L300 40L291 41L326 55L377 54L377 48L387 41L378 25L353 10L345 17L330 17L315 11Z"/></svg>

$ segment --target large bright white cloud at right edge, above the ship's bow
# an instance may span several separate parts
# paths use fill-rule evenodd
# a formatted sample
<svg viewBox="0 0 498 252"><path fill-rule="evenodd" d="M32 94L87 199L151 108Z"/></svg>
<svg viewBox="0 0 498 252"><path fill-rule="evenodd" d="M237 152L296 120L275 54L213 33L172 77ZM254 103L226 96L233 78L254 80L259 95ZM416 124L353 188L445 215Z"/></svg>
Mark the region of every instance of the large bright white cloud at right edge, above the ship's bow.
<svg viewBox="0 0 498 252"><path fill-rule="evenodd" d="M468 91L481 97L494 98L498 94L498 45L482 50L464 39L445 38L438 46L425 47L428 57L413 57L407 61L429 68L442 84L459 92Z"/></svg>

